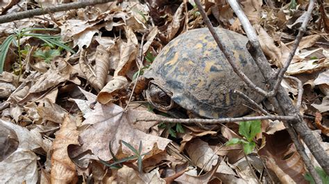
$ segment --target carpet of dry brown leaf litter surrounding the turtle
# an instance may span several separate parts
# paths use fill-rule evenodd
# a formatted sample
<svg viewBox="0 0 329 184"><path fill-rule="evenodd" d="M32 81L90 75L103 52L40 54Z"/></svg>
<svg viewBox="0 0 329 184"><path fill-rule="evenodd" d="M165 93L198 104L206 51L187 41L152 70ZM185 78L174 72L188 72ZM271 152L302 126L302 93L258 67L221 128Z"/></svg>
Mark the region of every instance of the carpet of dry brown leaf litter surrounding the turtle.
<svg viewBox="0 0 329 184"><path fill-rule="evenodd" d="M50 5L10 1L1 3L1 15ZM244 34L226 1L203 1L203 5L214 26ZM269 63L281 68L303 21L306 1L298 1L296 7L281 1L242 1L241 5ZM303 82L301 112L315 118L308 122L318 129L314 132L318 136L328 136L329 126L327 10L328 4L314 9L310 31L287 71ZM168 116L144 100L147 84L138 80L133 87L139 68L142 74L153 61L150 58L171 39L204 26L194 1L157 0L110 2L2 24L1 44L14 30L57 28L51 34L60 35L60 41L76 53L24 37L21 66L17 44L10 44L0 74L0 181L257 183L252 174L257 172L270 182L305 183L303 160L280 121L262 121L262 134L256 136L262 149L247 156L241 145L226 145L232 138L242 138L239 122L205 130L196 125L162 127L160 122L136 121L156 114ZM46 32L40 30L40 34ZM138 58L141 46L144 59ZM282 86L296 100L296 84L285 80ZM140 142L141 153L146 154L126 159ZM322 143L328 151L328 142ZM100 159L109 164L126 160L113 168Z"/></svg>

